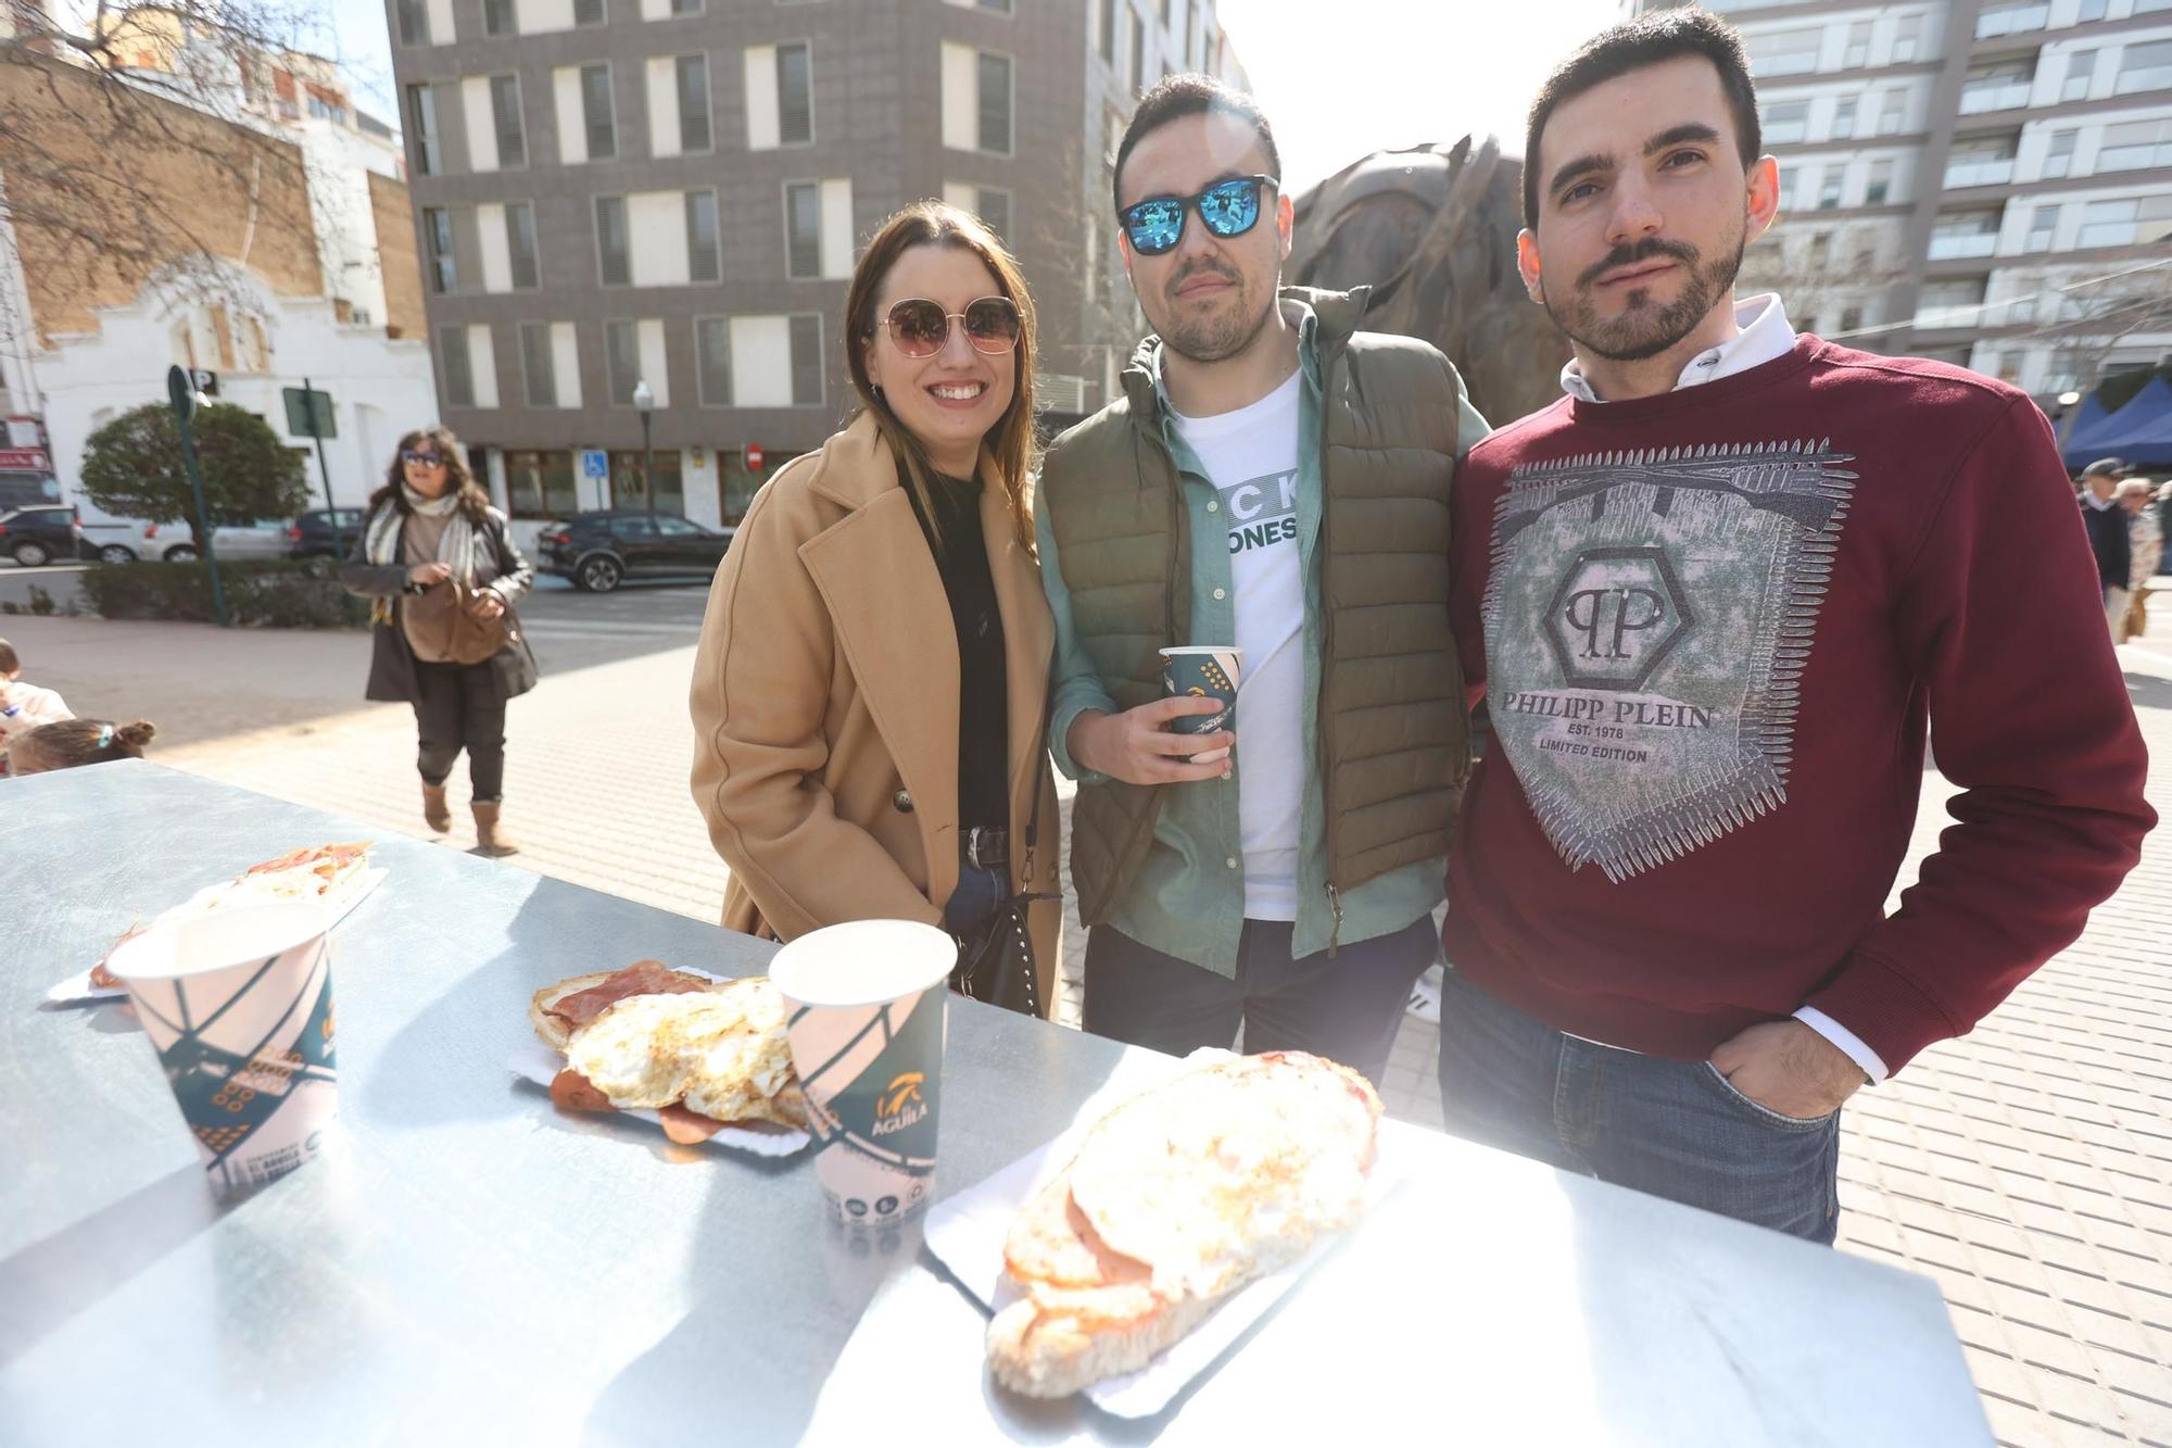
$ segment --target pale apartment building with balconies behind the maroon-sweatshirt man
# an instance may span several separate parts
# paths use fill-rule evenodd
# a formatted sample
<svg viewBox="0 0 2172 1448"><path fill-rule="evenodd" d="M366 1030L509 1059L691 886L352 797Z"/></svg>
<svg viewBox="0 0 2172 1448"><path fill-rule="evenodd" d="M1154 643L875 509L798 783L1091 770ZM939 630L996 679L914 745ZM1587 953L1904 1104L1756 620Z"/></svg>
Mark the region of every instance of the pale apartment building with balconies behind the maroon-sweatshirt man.
<svg viewBox="0 0 2172 1448"><path fill-rule="evenodd" d="M2172 0L1707 9L1781 163L1744 287L1798 328L2044 400L2172 357Z"/></svg>

